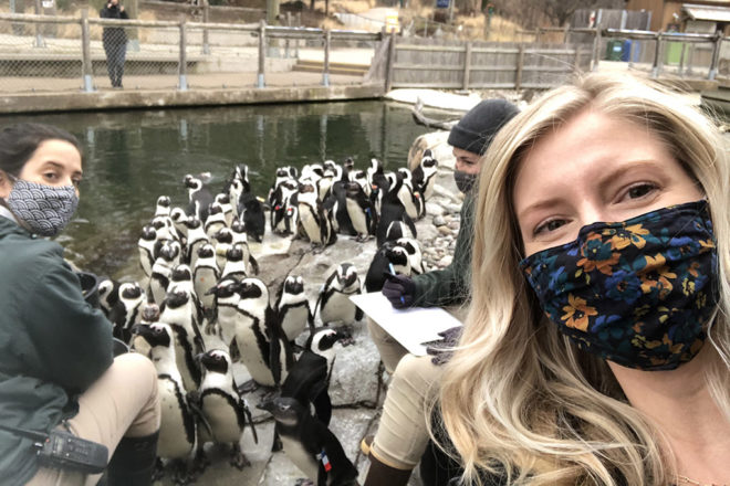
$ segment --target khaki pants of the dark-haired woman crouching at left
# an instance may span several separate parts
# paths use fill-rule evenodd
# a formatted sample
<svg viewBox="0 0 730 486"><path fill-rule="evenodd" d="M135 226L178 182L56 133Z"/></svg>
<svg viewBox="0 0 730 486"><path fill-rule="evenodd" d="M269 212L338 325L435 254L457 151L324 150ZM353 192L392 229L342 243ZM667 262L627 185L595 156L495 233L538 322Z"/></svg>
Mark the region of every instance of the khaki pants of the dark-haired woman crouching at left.
<svg viewBox="0 0 730 486"><path fill-rule="evenodd" d="M149 359L125 353L79 397L79 413L66 423L79 437L106 445L109 458L123 436L144 437L159 430L157 371ZM63 425L60 425L63 427ZM100 476L41 467L32 486L95 485Z"/></svg>

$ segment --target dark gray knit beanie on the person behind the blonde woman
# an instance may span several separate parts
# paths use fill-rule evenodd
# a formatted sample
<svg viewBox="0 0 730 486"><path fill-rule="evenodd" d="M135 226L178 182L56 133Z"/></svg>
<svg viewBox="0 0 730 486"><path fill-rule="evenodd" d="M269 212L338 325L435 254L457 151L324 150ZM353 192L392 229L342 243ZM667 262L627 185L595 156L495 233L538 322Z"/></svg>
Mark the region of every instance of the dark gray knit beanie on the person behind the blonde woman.
<svg viewBox="0 0 730 486"><path fill-rule="evenodd" d="M517 106L507 99L484 99L451 128L448 144L451 147L482 155L499 129L518 112Z"/></svg>

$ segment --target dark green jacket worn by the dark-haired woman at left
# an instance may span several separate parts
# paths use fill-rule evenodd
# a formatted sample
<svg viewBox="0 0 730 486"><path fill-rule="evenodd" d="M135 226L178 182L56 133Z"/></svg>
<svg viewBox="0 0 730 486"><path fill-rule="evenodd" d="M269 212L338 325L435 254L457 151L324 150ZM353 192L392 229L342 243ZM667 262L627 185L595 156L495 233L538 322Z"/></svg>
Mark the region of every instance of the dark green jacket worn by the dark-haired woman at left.
<svg viewBox="0 0 730 486"><path fill-rule="evenodd" d="M112 364L112 325L83 298L63 249L0 216L0 423L48 432ZM38 471L33 441L0 431L3 485Z"/></svg>

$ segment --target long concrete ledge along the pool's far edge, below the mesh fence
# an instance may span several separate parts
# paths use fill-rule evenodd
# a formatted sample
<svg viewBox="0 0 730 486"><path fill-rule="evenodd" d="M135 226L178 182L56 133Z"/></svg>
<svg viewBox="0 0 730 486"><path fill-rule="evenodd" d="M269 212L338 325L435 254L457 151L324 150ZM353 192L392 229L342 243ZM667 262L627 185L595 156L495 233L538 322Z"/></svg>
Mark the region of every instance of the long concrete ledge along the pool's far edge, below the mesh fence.
<svg viewBox="0 0 730 486"><path fill-rule="evenodd" d="M249 105L379 98L382 84L295 86L262 89L189 89L145 92L50 93L0 97L0 113L75 112L180 106Z"/></svg>

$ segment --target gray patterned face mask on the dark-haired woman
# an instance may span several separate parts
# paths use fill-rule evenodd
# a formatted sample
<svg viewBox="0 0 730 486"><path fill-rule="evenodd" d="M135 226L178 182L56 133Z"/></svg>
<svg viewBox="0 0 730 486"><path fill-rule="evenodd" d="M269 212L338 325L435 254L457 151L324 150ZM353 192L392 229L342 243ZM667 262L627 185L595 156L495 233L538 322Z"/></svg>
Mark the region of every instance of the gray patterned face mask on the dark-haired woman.
<svg viewBox="0 0 730 486"><path fill-rule="evenodd" d="M14 183L6 202L31 232L41 236L55 236L69 224L79 205L76 188L56 188L11 178Z"/></svg>

